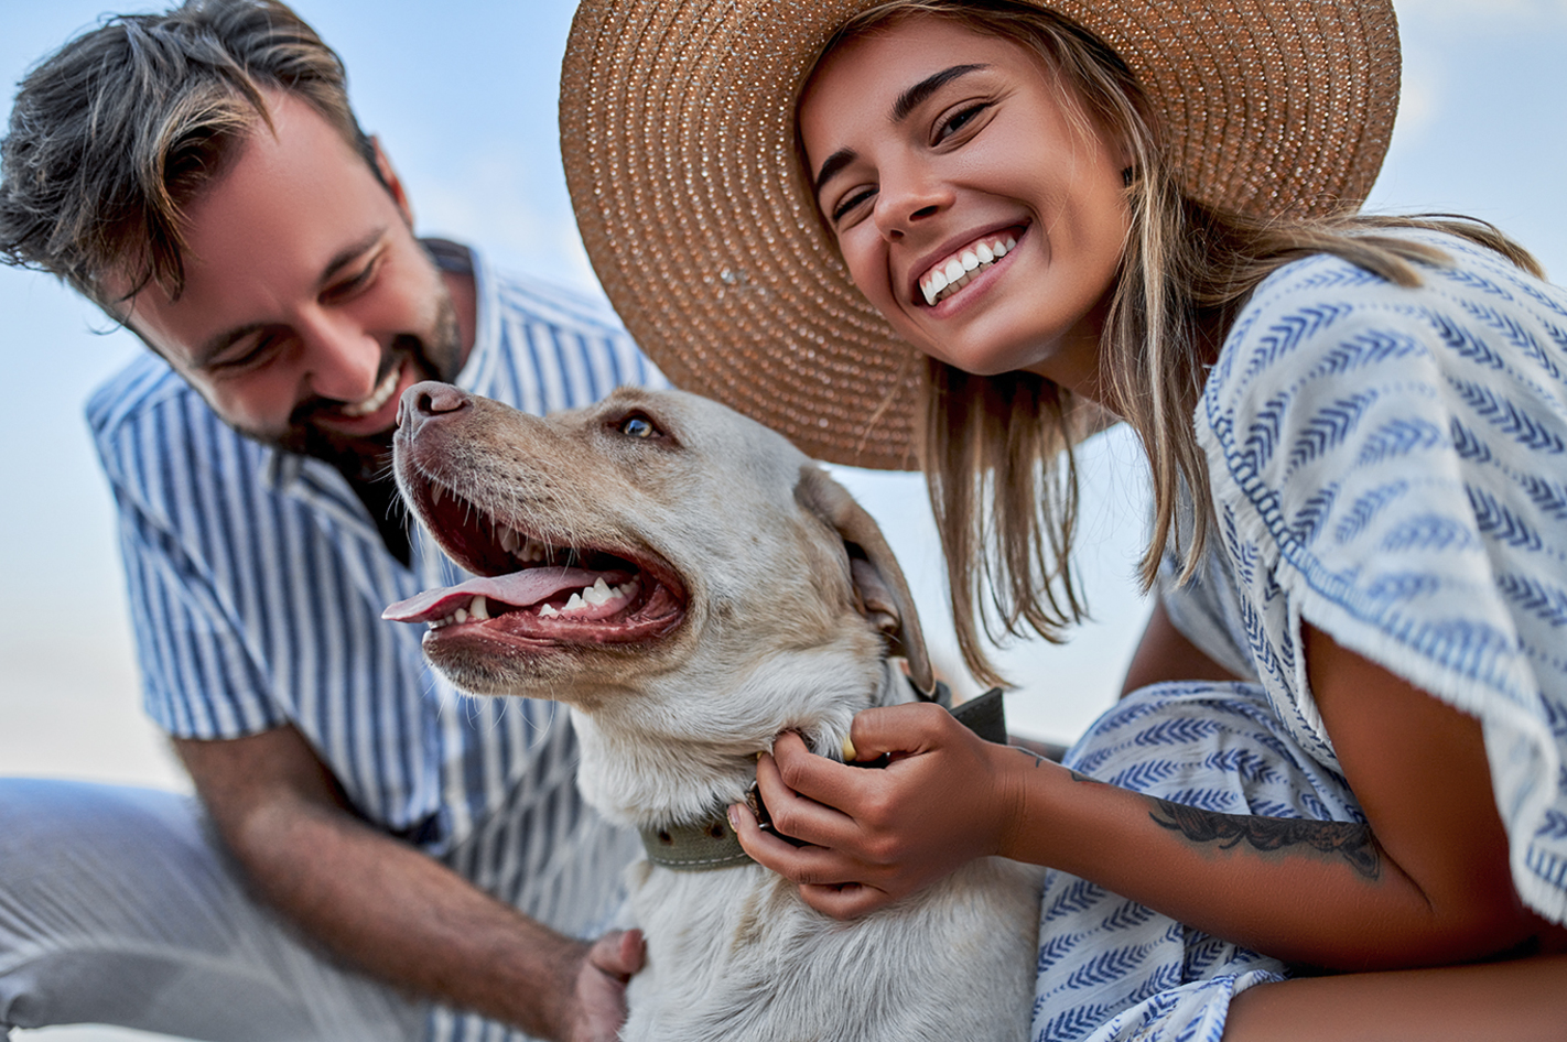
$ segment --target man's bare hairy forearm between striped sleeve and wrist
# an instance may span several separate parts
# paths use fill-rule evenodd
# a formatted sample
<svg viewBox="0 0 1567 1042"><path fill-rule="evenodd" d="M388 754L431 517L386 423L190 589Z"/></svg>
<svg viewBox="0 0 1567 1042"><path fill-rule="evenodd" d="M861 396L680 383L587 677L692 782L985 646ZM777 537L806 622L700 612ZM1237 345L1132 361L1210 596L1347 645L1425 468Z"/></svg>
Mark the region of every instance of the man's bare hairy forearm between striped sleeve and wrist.
<svg viewBox="0 0 1567 1042"><path fill-rule="evenodd" d="M359 821L291 727L176 747L257 892L310 937L407 992L564 1037L588 945Z"/></svg>

